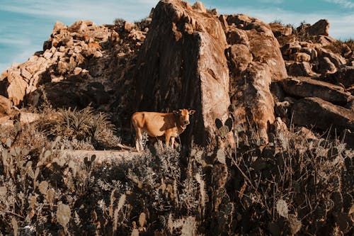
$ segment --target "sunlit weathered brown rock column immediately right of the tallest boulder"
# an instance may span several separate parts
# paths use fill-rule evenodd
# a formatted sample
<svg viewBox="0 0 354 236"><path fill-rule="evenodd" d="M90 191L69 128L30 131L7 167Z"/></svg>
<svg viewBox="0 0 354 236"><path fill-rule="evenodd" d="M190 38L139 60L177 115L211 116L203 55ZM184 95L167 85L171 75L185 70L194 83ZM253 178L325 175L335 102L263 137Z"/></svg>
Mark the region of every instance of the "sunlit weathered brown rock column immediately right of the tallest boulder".
<svg viewBox="0 0 354 236"><path fill-rule="evenodd" d="M275 120L270 83L287 77L280 46L270 26L256 18L236 14L227 16L226 22L225 33L232 44L227 59L234 117L236 123L256 126L266 143L269 125Z"/></svg>

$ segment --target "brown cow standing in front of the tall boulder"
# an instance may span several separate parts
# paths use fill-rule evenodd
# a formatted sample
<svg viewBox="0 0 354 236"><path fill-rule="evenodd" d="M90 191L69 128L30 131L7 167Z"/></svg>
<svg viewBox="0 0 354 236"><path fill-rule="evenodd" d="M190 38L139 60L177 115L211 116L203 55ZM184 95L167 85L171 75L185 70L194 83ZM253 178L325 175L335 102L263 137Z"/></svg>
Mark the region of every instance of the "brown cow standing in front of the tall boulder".
<svg viewBox="0 0 354 236"><path fill-rule="evenodd" d="M194 110L180 109L172 113L146 112L140 111L132 115L132 125L135 128L135 147L137 151L143 150L142 132L146 132L150 137L165 136L166 147L169 147L171 139L171 147L187 125L189 124L189 116L195 113Z"/></svg>

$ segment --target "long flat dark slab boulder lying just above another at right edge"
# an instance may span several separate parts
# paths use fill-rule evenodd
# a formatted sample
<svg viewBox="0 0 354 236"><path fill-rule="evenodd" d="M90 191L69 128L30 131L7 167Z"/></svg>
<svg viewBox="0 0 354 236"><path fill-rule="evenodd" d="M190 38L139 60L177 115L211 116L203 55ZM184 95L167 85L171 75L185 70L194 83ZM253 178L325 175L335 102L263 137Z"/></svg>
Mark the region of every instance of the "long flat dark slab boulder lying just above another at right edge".
<svg viewBox="0 0 354 236"><path fill-rule="evenodd" d="M341 86L321 82L308 77L283 79L282 88L287 94L295 97L319 97L331 103L345 105L353 99Z"/></svg>

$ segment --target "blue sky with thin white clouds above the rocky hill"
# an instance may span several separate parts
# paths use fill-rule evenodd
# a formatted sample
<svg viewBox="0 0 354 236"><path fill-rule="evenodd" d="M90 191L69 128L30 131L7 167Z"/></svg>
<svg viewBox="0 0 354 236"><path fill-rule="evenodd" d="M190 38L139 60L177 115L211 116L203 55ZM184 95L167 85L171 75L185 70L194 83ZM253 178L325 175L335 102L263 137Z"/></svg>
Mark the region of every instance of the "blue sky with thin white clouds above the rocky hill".
<svg viewBox="0 0 354 236"><path fill-rule="evenodd" d="M157 0L1 0L0 73L13 62L25 62L42 50L56 21L70 26L75 21L113 23L115 18L137 21L148 16ZM194 1L189 1L191 4ZM338 39L354 38L354 0L219 0L202 1L219 13L244 13L266 23L279 20L298 26L326 18L329 34Z"/></svg>

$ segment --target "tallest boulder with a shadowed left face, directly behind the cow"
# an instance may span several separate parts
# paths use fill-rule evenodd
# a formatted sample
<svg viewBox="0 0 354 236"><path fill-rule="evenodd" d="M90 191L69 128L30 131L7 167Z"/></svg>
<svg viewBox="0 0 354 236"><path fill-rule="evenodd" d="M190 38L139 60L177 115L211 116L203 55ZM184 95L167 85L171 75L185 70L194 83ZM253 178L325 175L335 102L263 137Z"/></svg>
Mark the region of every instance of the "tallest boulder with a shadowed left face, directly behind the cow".
<svg viewBox="0 0 354 236"><path fill-rule="evenodd" d="M215 16L184 1L160 1L137 59L136 110L194 108L197 113L183 134L206 145L215 138L215 119L227 118L226 47Z"/></svg>

